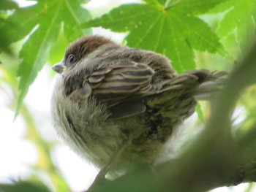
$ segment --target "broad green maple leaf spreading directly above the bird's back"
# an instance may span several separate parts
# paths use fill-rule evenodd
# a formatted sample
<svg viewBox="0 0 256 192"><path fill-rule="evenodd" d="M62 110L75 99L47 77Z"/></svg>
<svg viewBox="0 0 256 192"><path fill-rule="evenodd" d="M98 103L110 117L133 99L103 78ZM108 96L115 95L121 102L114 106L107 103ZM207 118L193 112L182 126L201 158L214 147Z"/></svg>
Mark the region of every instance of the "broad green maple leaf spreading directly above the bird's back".
<svg viewBox="0 0 256 192"><path fill-rule="evenodd" d="M146 1L150 3L151 1ZM154 1L157 2L157 1ZM168 9L155 4L124 4L101 18L83 23L83 28L110 28L112 31L129 31L127 44L167 55L178 72L195 69L193 49L219 53L230 57L211 28L194 14L206 12L221 1L176 1ZM188 7L194 8L189 14ZM206 6L206 8L203 8Z"/></svg>

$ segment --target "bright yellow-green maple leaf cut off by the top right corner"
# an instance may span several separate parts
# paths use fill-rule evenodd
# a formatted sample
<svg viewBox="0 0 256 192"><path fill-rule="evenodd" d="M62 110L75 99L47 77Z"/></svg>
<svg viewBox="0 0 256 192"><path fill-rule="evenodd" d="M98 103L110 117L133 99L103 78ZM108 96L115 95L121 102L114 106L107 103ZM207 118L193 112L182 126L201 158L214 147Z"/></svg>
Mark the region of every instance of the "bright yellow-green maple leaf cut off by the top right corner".
<svg viewBox="0 0 256 192"><path fill-rule="evenodd" d="M236 40L244 50L248 43L255 39L256 1L255 0L230 0L220 4L217 9L230 7L225 18L219 23L217 34L224 38L236 31Z"/></svg>

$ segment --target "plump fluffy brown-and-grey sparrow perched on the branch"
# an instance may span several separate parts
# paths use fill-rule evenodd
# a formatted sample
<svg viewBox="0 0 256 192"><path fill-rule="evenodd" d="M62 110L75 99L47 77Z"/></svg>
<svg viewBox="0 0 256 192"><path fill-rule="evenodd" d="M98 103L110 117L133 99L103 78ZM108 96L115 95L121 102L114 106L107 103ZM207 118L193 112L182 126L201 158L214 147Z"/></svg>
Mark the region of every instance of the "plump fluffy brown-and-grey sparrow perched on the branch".
<svg viewBox="0 0 256 192"><path fill-rule="evenodd" d="M60 74L53 126L100 177L154 165L173 131L198 100L220 90L225 76L207 69L177 74L164 55L97 35L72 42L52 69Z"/></svg>

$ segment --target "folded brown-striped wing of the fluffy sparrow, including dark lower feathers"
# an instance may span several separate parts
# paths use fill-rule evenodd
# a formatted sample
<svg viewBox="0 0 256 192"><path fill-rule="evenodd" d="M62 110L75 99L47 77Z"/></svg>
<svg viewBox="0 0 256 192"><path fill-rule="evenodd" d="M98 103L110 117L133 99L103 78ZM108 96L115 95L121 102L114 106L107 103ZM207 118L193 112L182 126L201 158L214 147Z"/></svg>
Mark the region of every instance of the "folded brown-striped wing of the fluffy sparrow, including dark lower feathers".
<svg viewBox="0 0 256 192"><path fill-rule="evenodd" d="M89 96L94 96L113 112L115 118L135 115L146 110L139 98L157 90L156 85L151 83L153 76L154 70L146 64L129 59L119 60L110 66L98 67L76 88L71 83L72 93L69 96L80 104ZM72 81L75 81L74 78Z"/></svg>

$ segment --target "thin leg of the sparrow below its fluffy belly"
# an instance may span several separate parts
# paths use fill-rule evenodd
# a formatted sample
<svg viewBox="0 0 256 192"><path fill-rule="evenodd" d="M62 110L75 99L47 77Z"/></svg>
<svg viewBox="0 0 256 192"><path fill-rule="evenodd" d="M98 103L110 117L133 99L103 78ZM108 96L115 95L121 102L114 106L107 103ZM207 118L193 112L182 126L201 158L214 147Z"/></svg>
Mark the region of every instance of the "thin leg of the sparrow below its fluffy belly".
<svg viewBox="0 0 256 192"><path fill-rule="evenodd" d="M129 137L130 138L130 137ZM125 139L121 145L118 147L115 153L110 156L110 159L108 160L108 163L103 166L102 169L100 169L99 173L95 177L94 183L91 184L91 187L94 185L97 185L97 183L100 183L105 180L105 175L108 173L108 170L110 169L110 166L116 161L116 159L121 155L127 144L129 143L130 139ZM90 187L90 188L91 188Z"/></svg>

